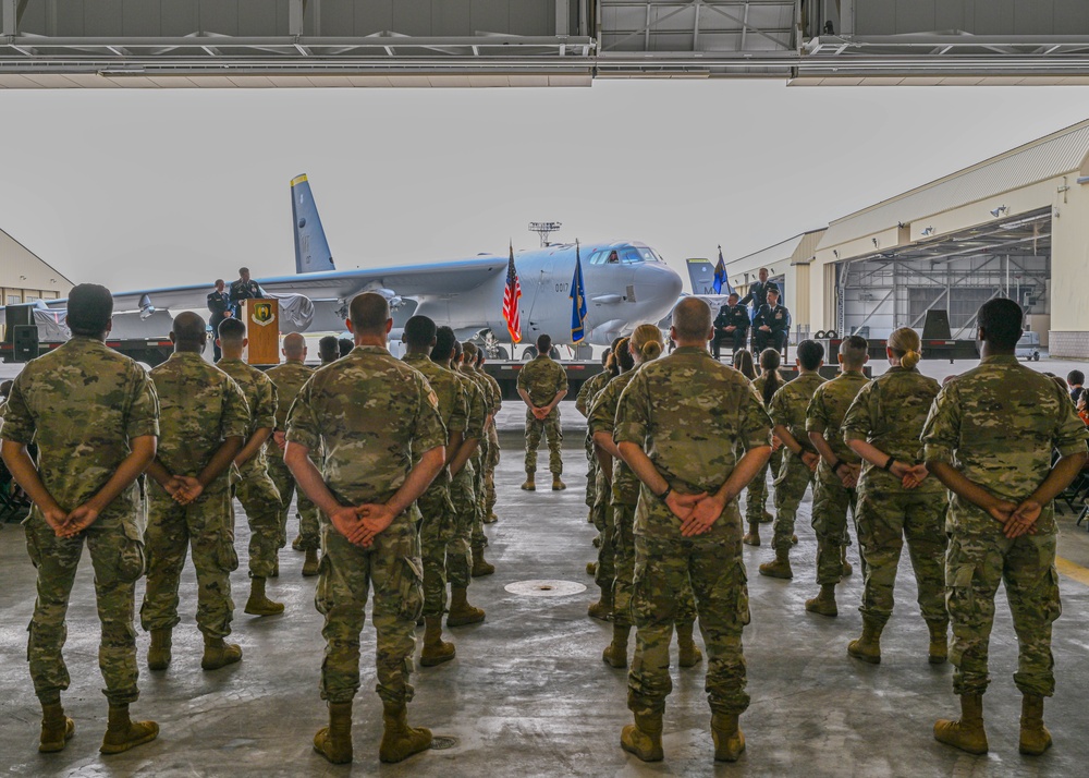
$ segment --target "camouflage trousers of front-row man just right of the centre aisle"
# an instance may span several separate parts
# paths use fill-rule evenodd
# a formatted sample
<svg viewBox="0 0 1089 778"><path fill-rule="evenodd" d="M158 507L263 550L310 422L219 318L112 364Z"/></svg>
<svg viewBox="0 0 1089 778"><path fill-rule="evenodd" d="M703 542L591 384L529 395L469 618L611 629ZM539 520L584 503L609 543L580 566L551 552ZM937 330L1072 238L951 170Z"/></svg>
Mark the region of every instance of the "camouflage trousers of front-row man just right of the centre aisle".
<svg viewBox="0 0 1089 778"><path fill-rule="evenodd" d="M736 502L726 507L719 522L721 528L699 537L635 538L632 615L637 631L627 706L636 714L661 714L673 690L670 640L686 579L696 596L707 648L705 688L711 712L741 714L748 707L742 654L742 629L749 622L748 587Z"/></svg>

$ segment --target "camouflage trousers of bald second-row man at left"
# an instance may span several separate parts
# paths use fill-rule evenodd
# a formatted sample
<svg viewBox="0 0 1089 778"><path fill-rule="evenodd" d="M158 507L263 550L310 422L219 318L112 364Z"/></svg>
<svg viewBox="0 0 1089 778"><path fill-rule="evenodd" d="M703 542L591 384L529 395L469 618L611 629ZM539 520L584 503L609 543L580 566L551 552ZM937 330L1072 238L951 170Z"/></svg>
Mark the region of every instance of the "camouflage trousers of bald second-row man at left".
<svg viewBox="0 0 1089 778"><path fill-rule="evenodd" d="M231 634L234 601L231 573L238 569L234 550L234 512L227 478L219 478L187 506L180 506L156 482L148 484L147 592L140 625L172 629L178 617L178 582L185 554L193 548L197 571L197 628L209 637Z"/></svg>

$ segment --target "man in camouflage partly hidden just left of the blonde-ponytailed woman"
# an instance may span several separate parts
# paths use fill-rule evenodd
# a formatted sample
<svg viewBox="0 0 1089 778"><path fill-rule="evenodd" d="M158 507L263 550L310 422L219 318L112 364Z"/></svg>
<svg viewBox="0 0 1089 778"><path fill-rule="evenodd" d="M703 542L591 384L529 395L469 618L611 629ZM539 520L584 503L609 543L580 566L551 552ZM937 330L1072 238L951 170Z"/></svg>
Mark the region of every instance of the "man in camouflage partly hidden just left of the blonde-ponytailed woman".
<svg viewBox="0 0 1089 778"><path fill-rule="evenodd" d="M861 460L843 439L840 426L847 409L869 379L862 365L869 358L865 338L844 338L840 344L840 375L817 388L806 414L806 430L820 452L817 484L813 487L813 533L817 535L817 583L820 594L806 600L806 610L835 617L835 585L852 573L847 563L847 510L855 513L855 485ZM857 533L857 528L855 531ZM866 575L866 560L862 560Z"/></svg>

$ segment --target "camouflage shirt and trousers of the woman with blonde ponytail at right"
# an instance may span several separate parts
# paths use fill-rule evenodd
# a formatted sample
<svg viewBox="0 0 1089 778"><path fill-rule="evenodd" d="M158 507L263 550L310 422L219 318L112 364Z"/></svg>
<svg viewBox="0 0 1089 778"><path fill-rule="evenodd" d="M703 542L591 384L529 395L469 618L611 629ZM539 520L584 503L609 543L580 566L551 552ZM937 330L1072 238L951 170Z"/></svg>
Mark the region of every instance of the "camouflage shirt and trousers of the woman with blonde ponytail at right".
<svg viewBox="0 0 1089 778"><path fill-rule="evenodd" d="M919 433L941 387L918 369L890 367L862 387L843 420L843 439L866 440L906 464L922 461ZM928 622L944 627L945 488L933 476L914 489L869 462L862 463L855 506L858 547L866 562L862 616L884 624L892 616L900 552L907 537L918 583L919 609Z"/></svg>

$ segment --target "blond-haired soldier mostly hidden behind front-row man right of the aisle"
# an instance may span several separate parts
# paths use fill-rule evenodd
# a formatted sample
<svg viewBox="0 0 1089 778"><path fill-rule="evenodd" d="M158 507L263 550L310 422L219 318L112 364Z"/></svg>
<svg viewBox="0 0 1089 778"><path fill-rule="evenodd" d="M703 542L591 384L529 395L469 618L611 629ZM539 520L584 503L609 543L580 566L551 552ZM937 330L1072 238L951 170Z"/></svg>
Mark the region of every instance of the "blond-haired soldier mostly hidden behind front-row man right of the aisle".
<svg viewBox="0 0 1089 778"><path fill-rule="evenodd" d="M616 406L624 389L635 377L635 367L658 358L663 348L662 331L656 325L645 324L636 327L631 343L627 338L622 339L616 345L616 362L624 372L609 381L594 398L587 420L599 455L603 463L609 463L603 464L603 467L610 469L612 473L610 545L613 549L615 574L612 581L601 582L600 585L602 585L602 598L607 592L609 593L613 616L613 639L601 654L601 658L616 668L627 667L627 643L632 633L632 583L635 576L635 508L639 501L639 479L621 458L620 449L613 442ZM627 357L624 356L625 352ZM692 584L686 579L682 579L677 595L680 603L674 622L677 633L677 665L695 667L703 655L692 637L696 621L696 599L692 594Z"/></svg>

